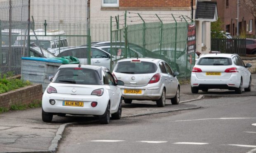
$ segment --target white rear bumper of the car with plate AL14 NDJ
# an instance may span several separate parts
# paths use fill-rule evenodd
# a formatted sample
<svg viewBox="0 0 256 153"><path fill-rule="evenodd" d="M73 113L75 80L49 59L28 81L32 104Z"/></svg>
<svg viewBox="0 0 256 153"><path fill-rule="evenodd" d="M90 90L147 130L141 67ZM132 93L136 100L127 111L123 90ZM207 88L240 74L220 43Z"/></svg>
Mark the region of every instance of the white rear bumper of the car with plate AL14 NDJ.
<svg viewBox="0 0 256 153"><path fill-rule="evenodd" d="M55 104L50 104L49 100L55 100ZM64 106L65 100L83 102L83 107ZM42 108L47 113L64 113L77 115L103 115L108 104L106 95L70 95L57 93L44 93L42 99ZM97 102L96 107L91 106L91 102Z"/></svg>

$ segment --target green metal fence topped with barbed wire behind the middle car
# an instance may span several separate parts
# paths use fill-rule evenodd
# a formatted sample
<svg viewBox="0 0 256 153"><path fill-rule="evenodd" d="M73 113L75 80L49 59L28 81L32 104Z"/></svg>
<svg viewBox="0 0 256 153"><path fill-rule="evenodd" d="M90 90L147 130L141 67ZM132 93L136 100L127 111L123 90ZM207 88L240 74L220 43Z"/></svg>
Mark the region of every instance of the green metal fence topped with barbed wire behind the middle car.
<svg viewBox="0 0 256 153"><path fill-rule="evenodd" d="M188 79L195 63L195 53L187 55L188 25L192 23L187 16L178 14L128 12L115 16L111 18L111 54L163 59L180 72L180 80Z"/></svg>

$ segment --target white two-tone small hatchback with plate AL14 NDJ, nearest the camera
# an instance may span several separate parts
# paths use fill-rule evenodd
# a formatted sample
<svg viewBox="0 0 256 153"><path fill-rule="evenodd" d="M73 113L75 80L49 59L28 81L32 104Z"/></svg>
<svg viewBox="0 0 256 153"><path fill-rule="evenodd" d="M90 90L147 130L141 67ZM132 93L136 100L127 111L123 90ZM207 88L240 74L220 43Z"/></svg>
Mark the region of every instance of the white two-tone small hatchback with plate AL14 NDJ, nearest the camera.
<svg viewBox="0 0 256 153"><path fill-rule="evenodd" d="M94 115L108 124L110 114L113 119L121 118L121 96L106 67L61 65L43 94L42 119L51 122L53 115Z"/></svg>

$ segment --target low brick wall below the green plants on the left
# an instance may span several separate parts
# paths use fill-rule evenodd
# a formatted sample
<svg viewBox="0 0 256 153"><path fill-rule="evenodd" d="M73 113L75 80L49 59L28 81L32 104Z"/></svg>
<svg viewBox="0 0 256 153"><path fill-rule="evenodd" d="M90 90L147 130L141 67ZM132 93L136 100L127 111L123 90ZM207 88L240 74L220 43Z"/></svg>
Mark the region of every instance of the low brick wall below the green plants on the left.
<svg viewBox="0 0 256 153"><path fill-rule="evenodd" d="M34 84L0 94L0 107L9 108L13 104L29 104L42 100L42 85Z"/></svg>

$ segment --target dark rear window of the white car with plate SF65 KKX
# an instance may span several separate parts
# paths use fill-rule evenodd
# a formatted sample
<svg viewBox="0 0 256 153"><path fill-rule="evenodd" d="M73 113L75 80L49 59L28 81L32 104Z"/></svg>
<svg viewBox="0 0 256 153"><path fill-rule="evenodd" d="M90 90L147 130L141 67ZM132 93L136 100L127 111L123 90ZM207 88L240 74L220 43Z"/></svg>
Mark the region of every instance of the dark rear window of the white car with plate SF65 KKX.
<svg viewBox="0 0 256 153"><path fill-rule="evenodd" d="M224 57L205 57L200 58L197 65L232 65L232 60Z"/></svg>

